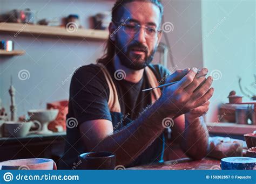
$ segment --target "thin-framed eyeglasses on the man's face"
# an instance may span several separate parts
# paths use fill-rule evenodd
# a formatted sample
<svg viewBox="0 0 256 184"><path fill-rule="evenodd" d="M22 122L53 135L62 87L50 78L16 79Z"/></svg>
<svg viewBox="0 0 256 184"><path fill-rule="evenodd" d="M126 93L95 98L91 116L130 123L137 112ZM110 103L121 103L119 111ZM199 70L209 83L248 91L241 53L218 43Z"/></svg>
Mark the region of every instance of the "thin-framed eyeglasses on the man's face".
<svg viewBox="0 0 256 184"><path fill-rule="evenodd" d="M149 38L154 38L159 33L162 32L162 30L157 30L157 28L153 26L142 26L139 24L129 24L129 23L121 24L120 26L122 26L122 29L124 30L124 32L126 32L130 36L134 36L135 34L137 34L141 28L144 29L146 33L146 37L149 37Z"/></svg>

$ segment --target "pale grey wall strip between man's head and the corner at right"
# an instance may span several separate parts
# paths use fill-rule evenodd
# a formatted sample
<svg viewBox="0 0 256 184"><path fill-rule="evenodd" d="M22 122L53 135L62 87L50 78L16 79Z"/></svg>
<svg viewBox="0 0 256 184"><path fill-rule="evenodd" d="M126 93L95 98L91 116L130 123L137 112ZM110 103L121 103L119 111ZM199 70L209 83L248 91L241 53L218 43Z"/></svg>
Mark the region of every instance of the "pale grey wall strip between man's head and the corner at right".
<svg viewBox="0 0 256 184"><path fill-rule="evenodd" d="M164 22L173 24L173 31L166 34L171 44L174 66L177 65L178 69L202 68L201 1L163 1L163 5Z"/></svg>

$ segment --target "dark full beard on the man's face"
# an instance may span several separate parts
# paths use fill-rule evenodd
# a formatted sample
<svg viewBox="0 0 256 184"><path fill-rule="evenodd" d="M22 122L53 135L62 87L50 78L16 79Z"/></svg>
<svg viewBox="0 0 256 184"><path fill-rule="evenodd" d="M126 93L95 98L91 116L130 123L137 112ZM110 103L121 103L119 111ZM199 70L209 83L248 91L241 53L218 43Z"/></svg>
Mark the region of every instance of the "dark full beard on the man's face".
<svg viewBox="0 0 256 184"><path fill-rule="evenodd" d="M116 46L117 46L116 48L117 56L120 60L121 65L133 70L140 70L145 68L147 65L149 65L152 62L154 53L156 53L156 50L157 50L157 48L154 48L153 51L151 51L150 55L147 56L149 53L149 49L147 49L147 47L145 47L141 43L133 43L129 45L127 47L126 52L124 52L123 46L118 40L117 40ZM133 48L143 49L144 55L145 55L144 60L141 59L141 55L138 55L137 58L135 59L130 58L130 53L132 52Z"/></svg>

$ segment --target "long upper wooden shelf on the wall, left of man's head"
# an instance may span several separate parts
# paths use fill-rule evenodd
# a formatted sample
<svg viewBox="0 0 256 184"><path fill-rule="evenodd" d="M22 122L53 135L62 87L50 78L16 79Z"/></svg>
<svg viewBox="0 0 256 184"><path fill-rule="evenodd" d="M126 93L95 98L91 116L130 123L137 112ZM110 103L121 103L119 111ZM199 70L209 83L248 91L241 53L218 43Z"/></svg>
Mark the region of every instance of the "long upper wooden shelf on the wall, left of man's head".
<svg viewBox="0 0 256 184"><path fill-rule="evenodd" d="M0 32L19 34L32 34L34 36L48 36L60 38L78 38L78 39L93 39L106 40L109 37L109 32L104 30L93 29L77 29L74 32L68 32L65 27L44 26L44 25L26 25L18 23L0 23Z"/></svg>

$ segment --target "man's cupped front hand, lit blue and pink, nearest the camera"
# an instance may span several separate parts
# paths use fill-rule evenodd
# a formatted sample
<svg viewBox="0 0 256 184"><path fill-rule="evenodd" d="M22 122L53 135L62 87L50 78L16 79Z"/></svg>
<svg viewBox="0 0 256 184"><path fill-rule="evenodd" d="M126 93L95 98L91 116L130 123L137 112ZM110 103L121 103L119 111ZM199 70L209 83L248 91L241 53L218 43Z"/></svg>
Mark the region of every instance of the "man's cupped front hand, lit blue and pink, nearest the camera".
<svg viewBox="0 0 256 184"><path fill-rule="evenodd" d="M194 115L195 112L199 114L199 110L202 111L201 109L207 105L207 101L212 97L214 91L213 88L210 88L213 81L211 76L207 79L205 77L196 78L207 74L207 72L207 68L203 68L199 73L197 68L192 68L188 69L188 72L177 70L169 76L166 83L180 81L164 88L163 94L159 98L162 103L161 112L166 115L176 112L176 116L179 116L194 109L188 115Z"/></svg>

